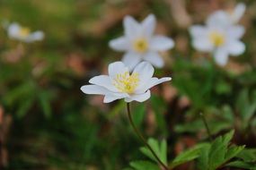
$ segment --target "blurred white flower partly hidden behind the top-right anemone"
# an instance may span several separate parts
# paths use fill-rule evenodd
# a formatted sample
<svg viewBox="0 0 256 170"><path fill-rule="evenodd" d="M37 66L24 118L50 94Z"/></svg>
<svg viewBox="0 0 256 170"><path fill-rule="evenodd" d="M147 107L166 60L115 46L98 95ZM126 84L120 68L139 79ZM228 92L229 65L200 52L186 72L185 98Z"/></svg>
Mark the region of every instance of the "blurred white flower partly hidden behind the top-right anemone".
<svg viewBox="0 0 256 170"><path fill-rule="evenodd" d="M218 10L212 13L207 19L207 25L221 24L221 25L232 25L237 24L243 17L246 6L243 3L239 3L234 7L232 11Z"/></svg>

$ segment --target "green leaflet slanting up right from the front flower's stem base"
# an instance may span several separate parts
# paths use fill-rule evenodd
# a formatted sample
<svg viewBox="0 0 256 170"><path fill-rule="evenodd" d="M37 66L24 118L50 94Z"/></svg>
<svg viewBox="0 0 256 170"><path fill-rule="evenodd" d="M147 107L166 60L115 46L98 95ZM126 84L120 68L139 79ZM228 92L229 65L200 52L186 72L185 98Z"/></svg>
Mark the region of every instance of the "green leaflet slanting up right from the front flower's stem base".
<svg viewBox="0 0 256 170"><path fill-rule="evenodd" d="M202 148L207 147L207 144L199 144L192 149L188 149L182 152L178 157L175 157L172 160L172 167L179 166L185 162L189 162L197 157L199 157L199 152Z"/></svg>

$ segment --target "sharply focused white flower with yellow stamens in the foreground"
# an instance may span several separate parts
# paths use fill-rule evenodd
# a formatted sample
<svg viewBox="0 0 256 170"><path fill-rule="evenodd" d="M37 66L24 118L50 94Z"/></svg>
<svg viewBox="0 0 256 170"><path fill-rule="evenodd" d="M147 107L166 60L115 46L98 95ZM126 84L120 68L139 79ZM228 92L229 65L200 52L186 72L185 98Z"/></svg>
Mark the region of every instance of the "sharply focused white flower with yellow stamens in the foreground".
<svg viewBox="0 0 256 170"><path fill-rule="evenodd" d="M154 68L147 62L137 64L134 71L129 73L128 67L122 62L109 65L109 75L93 77L81 90L85 94L104 95L104 103L124 98L126 102L136 100L144 102L150 98L150 90L164 81L171 81L170 77L157 79L152 77Z"/></svg>

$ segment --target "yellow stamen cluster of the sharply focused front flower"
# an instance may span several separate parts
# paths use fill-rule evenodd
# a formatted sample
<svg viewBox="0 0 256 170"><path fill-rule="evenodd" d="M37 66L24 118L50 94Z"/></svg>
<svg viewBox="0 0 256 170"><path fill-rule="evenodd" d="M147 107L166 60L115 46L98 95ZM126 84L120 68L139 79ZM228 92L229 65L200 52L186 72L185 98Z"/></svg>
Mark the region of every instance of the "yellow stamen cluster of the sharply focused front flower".
<svg viewBox="0 0 256 170"><path fill-rule="evenodd" d="M119 92L134 93L138 85L138 73L134 72L129 75L129 72L119 73L113 81L113 85L119 89Z"/></svg>

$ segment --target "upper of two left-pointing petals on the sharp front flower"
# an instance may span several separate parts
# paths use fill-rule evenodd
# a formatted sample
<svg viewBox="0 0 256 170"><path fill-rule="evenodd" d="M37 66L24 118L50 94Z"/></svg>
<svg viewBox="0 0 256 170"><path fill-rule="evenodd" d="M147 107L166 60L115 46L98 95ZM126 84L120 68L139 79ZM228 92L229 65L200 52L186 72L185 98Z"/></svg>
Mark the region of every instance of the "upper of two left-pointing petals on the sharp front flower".
<svg viewBox="0 0 256 170"><path fill-rule="evenodd" d="M102 86L103 88L109 89L110 91L113 92L118 92L118 89L116 89L110 80L110 77L107 75L99 75L95 76L89 81L92 84Z"/></svg>

